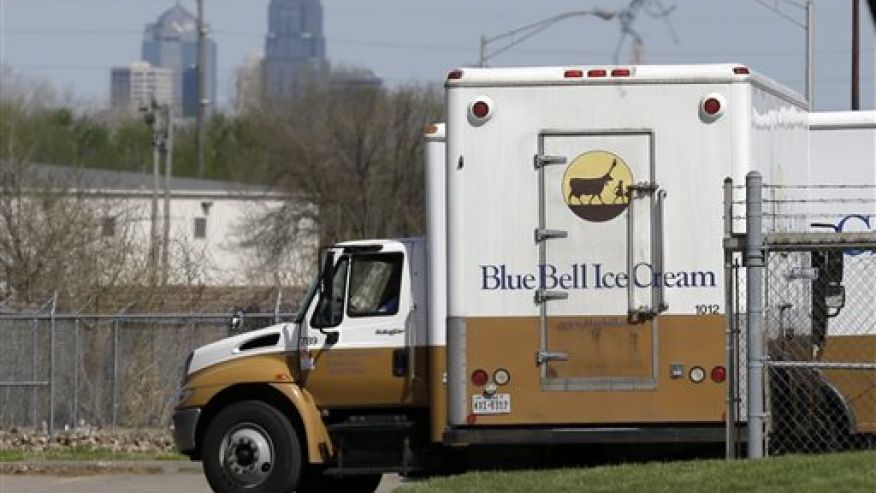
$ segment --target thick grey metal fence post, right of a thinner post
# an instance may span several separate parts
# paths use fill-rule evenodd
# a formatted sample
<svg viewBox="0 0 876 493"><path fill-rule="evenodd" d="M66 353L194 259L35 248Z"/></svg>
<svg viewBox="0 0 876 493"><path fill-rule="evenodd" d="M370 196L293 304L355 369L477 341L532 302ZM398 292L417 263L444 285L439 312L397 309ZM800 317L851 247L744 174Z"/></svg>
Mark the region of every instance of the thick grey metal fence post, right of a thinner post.
<svg viewBox="0 0 876 493"><path fill-rule="evenodd" d="M763 458L764 378L763 378L763 276L762 228L763 177L757 171L745 177L745 266L746 326L748 342L748 458Z"/></svg>

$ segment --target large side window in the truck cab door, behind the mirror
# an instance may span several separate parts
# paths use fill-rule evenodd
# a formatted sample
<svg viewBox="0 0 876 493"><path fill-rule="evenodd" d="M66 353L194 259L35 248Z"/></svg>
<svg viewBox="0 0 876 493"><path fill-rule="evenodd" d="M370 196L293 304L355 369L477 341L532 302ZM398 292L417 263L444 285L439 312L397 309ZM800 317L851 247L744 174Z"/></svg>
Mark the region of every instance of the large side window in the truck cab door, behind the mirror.
<svg viewBox="0 0 876 493"><path fill-rule="evenodd" d="M359 256L350 270L347 315L388 316L398 313L403 256Z"/></svg>

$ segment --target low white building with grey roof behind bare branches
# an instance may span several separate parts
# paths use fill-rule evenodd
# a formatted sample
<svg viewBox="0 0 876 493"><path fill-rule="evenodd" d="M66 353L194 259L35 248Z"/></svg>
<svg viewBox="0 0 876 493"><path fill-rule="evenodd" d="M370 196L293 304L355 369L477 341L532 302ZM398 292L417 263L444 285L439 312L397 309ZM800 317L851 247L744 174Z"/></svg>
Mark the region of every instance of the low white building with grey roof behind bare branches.
<svg viewBox="0 0 876 493"><path fill-rule="evenodd" d="M100 224L105 237L129 235L133 245L148 249L154 178L150 173L33 164L32 176L47 183L64 183L89 200L106 205ZM162 185L163 185L162 178ZM303 286L313 275L318 232L310 217L313 206L258 185L174 177L169 187L170 285L199 286ZM159 190L156 221L164 218L163 189ZM250 227L265 213L302 211L295 241L283 247L275 262L265 262L269 248L245 247L252 239ZM161 232L163 227L159 227ZM270 248L274 246L267 245Z"/></svg>

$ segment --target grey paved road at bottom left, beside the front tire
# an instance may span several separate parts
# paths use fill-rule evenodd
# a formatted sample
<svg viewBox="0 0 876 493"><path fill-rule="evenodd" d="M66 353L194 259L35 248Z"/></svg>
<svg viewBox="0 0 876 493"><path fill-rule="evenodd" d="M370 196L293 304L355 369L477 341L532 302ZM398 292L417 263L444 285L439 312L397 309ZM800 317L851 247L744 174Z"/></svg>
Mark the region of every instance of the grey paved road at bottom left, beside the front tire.
<svg viewBox="0 0 876 493"><path fill-rule="evenodd" d="M389 493L401 484L395 475L386 475L377 489ZM18 476L0 475L0 493L210 493L202 474L169 472L161 474L107 474L98 476Z"/></svg>

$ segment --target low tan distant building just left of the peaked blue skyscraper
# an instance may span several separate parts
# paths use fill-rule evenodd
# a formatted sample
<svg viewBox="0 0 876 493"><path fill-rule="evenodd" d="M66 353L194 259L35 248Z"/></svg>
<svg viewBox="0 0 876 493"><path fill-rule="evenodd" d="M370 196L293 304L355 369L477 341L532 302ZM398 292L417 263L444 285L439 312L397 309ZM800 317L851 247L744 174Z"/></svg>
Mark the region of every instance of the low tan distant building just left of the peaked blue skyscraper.
<svg viewBox="0 0 876 493"><path fill-rule="evenodd" d="M110 77L112 107L125 113L135 114L151 102L153 95L158 104L178 104L174 73L170 69L134 62L127 67L114 67Z"/></svg>

